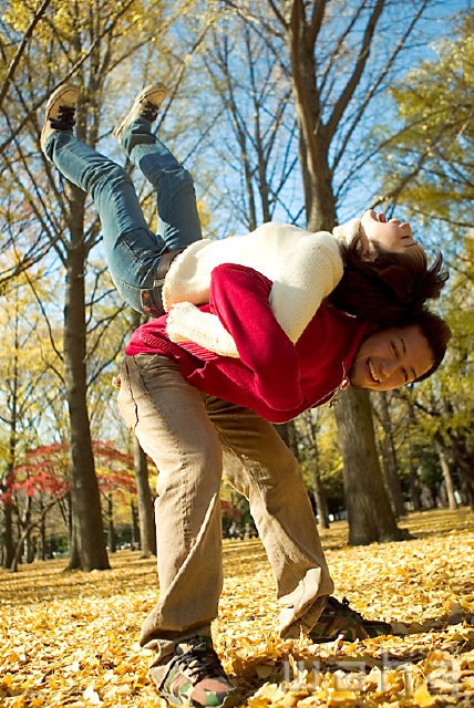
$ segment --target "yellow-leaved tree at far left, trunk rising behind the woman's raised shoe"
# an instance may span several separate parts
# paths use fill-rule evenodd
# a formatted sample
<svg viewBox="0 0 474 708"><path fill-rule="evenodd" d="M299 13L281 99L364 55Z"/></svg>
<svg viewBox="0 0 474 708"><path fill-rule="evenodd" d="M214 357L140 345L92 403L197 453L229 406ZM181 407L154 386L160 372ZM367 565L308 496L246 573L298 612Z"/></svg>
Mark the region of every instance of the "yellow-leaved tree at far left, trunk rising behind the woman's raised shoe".
<svg viewBox="0 0 474 708"><path fill-rule="evenodd" d="M76 83L81 91L78 136L95 147L117 121L125 92L132 98L137 85L156 79L156 66L161 66L161 79L165 80L171 66L179 63L173 54L179 39L173 37L171 28L177 18L183 22L192 8L193 3L184 2L181 13L176 3L161 1L97 4L80 0L71 4L53 0L35 24L3 97L0 210L8 229L0 244L4 251L14 251L22 267L41 256L59 264L64 275L64 285L56 293L64 322L62 343L56 343L56 348L62 352L63 395L70 417L70 568L109 568L101 533L87 386L97 371L93 356L97 343L106 337L122 306L111 292L110 280L104 279L103 264L92 262L91 252L100 241L94 211L84 192L64 184L40 150L44 104L60 83ZM10 2L0 27L7 62L12 61L33 17L33 8L17 0ZM102 123L104 115L106 125ZM3 270L0 281L6 282L18 268ZM122 344L123 335L113 341L107 353L102 348L99 368L115 362Z"/></svg>

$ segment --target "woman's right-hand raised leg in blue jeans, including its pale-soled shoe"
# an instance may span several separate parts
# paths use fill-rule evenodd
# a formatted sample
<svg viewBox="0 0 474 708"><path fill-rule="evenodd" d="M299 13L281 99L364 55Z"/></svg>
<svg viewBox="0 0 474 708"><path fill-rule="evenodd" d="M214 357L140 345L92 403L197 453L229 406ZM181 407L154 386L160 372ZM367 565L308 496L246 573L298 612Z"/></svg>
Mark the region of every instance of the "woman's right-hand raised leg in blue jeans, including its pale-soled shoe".
<svg viewBox="0 0 474 708"><path fill-rule="evenodd" d="M147 86L114 131L134 165L156 190L158 233L169 250L202 238L193 177L152 133L152 123L166 95L163 84Z"/></svg>

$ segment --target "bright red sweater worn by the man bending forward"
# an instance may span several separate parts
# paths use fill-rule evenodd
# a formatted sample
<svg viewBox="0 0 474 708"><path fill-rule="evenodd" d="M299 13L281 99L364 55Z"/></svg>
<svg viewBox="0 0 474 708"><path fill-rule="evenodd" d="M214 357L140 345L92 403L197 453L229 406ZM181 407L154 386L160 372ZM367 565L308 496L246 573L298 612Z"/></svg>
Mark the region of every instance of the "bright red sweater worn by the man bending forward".
<svg viewBox="0 0 474 708"><path fill-rule="evenodd" d="M286 423L332 397L368 325L321 306L292 344L271 311L270 289L271 281L251 268L225 263L213 270L209 304L202 310L219 317L235 340L239 360L192 342L171 342L167 315L138 327L125 353L173 358L199 391L251 408L271 423Z"/></svg>

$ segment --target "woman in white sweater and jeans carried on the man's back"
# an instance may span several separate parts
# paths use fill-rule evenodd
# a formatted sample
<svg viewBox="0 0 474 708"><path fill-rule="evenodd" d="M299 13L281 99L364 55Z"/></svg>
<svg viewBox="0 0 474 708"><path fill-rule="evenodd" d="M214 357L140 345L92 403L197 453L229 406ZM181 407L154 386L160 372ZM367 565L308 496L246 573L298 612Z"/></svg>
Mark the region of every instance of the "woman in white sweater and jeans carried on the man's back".
<svg viewBox="0 0 474 708"><path fill-rule="evenodd" d="M156 235L143 217L128 174L72 134L74 86L60 86L52 94L41 145L64 177L93 198L121 295L147 315L169 312L166 331L172 341L239 356L218 317L198 309L209 301L212 272L223 263L253 268L272 281L271 309L293 343L329 295L339 309L391 326L440 294L447 278L442 257L429 268L410 225L385 221L372 209L332 233L270 222L243 237L203 239L193 178L152 134L165 96L163 84L144 88L114 131L156 190Z"/></svg>

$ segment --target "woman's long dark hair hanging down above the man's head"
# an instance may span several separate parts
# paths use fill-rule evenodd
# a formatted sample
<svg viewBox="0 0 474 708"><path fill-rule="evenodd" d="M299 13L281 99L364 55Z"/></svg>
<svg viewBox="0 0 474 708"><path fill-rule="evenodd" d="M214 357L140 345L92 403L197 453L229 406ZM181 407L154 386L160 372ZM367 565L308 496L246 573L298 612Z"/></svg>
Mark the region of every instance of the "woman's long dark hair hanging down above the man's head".
<svg viewBox="0 0 474 708"><path fill-rule="evenodd" d="M377 247L377 244L375 244ZM423 310L426 300L440 296L449 273L439 253L431 268L424 254L392 253L377 247L374 261L361 258L360 238L341 246L344 273L329 301L339 310L371 324L390 327Z"/></svg>

